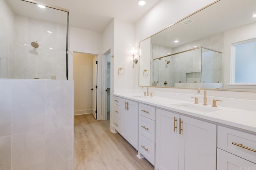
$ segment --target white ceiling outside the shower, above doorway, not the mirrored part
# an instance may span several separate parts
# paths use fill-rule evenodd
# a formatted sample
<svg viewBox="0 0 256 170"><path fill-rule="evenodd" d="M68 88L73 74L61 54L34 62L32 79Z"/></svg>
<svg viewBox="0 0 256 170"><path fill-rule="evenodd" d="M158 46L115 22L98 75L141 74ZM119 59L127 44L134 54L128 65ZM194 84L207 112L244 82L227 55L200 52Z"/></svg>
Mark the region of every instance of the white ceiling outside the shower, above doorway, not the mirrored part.
<svg viewBox="0 0 256 170"><path fill-rule="evenodd" d="M137 0L36 1L68 9L70 26L103 32L113 18L136 22L160 0L146 0L144 6L139 6Z"/></svg>

